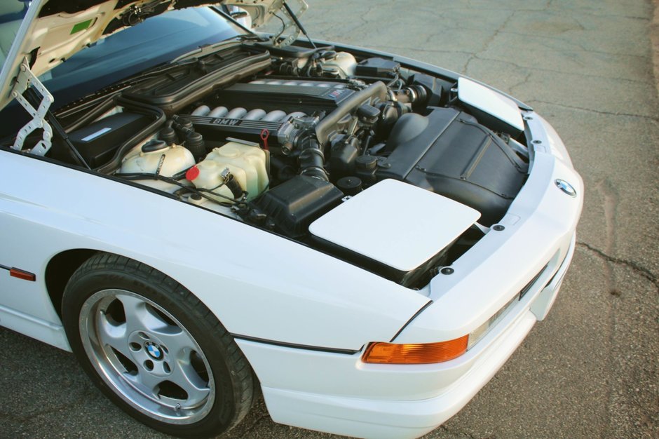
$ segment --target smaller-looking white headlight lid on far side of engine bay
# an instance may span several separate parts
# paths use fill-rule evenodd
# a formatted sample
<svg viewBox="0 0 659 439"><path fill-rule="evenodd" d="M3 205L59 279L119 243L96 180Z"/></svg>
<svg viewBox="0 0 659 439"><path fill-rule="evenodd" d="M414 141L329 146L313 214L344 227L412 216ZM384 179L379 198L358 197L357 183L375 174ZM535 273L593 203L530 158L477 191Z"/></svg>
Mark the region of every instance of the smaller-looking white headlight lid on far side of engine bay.
<svg viewBox="0 0 659 439"><path fill-rule="evenodd" d="M458 78L458 99L524 131L524 121L515 101L470 79Z"/></svg>

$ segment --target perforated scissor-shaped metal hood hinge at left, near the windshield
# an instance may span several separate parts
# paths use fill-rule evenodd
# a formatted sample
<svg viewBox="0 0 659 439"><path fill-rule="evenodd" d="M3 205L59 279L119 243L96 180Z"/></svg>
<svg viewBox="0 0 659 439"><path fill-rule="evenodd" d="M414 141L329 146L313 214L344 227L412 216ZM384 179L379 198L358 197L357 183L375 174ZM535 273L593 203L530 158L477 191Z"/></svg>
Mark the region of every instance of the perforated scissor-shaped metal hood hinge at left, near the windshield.
<svg viewBox="0 0 659 439"><path fill-rule="evenodd" d="M30 86L34 87L36 91L41 94L41 103L39 104L38 109L32 107L32 104L30 104L28 100L23 97L23 93ZM17 100L23 108L25 108L25 111L27 111L30 116L32 116L32 121L29 121L23 128L20 129L18 135L16 135L16 140L12 146L12 149L21 151L23 149L25 138L29 135L29 133L32 133L32 131L41 128L43 130L42 140L39 140L39 142L37 142L36 145L32 147L32 149L29 149L28 152L36 156L45 155L48 152L48 149L50 149L50 140L53 139L53 128L51 128L50 124L46 121L46 113L48 112L48 108L50 108L50 104L53 103L54 99L53 95L51 95L48 89L43 86L41 81L39 81L39 78L34 76L32 71L29 69L27 58L23 58L23 61L20 64L20 71L18 72L16 83L11 90L11 96L15 98L15 100Z"/></svg>

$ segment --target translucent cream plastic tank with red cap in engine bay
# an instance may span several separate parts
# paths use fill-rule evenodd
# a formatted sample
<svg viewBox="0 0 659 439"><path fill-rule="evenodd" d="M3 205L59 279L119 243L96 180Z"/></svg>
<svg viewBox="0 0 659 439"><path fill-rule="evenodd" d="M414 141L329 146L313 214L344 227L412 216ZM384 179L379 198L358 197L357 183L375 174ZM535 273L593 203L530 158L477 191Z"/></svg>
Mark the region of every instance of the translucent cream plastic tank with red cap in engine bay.
<svg viewBox="0 0 659 439"><path fill-rule="evenodd" d="M221 196L214 197L221 203L230 202L233 194L223 184L222 173L229 169L233 178L247 192L247 200L261 194L268 187L266 151L258 144L229 142L215 148L195 167L197 172L189 172L188 178L199 189L208 189ZM226 198L224 198L226 197Z"/></svg>

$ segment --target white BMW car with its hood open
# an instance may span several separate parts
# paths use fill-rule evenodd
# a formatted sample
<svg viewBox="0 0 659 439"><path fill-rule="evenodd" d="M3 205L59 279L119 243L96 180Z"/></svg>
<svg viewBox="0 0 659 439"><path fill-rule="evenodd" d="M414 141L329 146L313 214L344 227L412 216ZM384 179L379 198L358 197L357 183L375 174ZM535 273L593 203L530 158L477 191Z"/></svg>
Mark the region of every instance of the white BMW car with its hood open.
<svg viewBox="0 0 659 439"><path fill-rule="evenodd" d="M0 3L0 324L174 435L259 393L292 426L437 428L555 300L564 144L473 79L304 38L304 1L208 3Z"/></svg>

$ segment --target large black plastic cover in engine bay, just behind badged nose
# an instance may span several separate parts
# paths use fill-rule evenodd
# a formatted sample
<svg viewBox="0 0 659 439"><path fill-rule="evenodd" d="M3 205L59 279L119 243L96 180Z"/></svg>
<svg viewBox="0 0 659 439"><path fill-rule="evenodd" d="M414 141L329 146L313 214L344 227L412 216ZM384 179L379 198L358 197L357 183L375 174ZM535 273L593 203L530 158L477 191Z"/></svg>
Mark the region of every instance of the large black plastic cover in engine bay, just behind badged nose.
<svg viewBox="0 0 659 439"><path fill-rule="evenodd" d="M464 203L481 213L485 226L505 215L528 170L500 137L452 108L402 116L387 149L378 180L403 180Z"/></svg>

